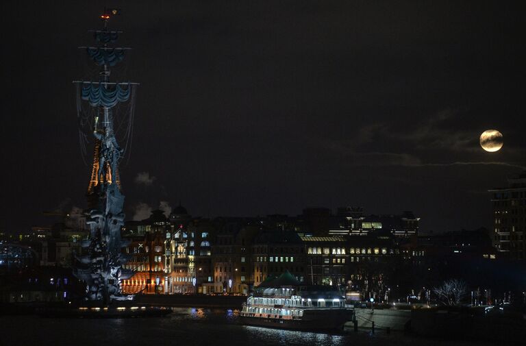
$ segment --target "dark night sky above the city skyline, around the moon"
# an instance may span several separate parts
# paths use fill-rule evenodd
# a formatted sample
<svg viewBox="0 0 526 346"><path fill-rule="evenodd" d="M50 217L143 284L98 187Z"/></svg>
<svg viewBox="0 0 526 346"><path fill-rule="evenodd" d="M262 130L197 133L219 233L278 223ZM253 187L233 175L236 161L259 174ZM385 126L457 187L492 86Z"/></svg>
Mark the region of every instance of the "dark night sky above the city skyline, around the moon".
<svg viewBox="0 0 526 346"><path fill-rule="evenodd" d="M0 231L85 208L75 87L104 5L140 82L128 219L309 206L413 210L424 232L491 226L526 166L524 12L506 1L2 3ZM114 76L112 76L114 77ZM485 129L501 151L478 143ZM137 214L138 213L138 214Z"/></svg>

